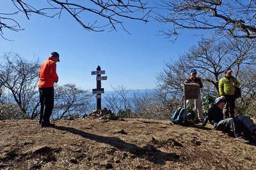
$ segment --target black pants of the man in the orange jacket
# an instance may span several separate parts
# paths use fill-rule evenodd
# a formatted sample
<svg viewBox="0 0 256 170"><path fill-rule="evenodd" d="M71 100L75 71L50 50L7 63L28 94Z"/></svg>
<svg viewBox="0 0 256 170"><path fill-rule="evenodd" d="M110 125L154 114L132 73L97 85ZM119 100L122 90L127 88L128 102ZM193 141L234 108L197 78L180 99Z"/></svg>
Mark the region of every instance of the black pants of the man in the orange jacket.
<svg viewBox="0 0 256 170"><path fill-rule="evenodd" d="M49 123L54 106L54 89L53 87L39 88L40 97L40 122Z"/></svg>

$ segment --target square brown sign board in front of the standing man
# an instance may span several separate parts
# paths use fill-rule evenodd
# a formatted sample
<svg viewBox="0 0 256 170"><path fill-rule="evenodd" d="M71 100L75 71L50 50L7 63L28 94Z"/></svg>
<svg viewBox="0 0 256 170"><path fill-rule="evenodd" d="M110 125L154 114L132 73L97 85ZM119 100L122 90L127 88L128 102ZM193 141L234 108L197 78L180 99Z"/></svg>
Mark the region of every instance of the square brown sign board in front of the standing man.
<svg viewBox="0 0 256 170"><path fill-rule="evenodd" d="M197 99L200 85L195 83L184 83L184 99Z"/></svg>

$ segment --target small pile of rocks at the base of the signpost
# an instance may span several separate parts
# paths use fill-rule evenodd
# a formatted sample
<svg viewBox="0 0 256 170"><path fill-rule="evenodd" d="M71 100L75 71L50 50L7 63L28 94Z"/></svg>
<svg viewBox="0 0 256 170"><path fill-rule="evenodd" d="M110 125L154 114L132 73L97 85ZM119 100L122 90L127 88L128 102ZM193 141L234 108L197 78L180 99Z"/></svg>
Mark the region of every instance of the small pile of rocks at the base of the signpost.
<svg viewBox="0 0 256 170"><path fill-rule="evenodd" d="M118 116L112 113L111 110L103 108L103 110L93 110L89 115L84 115L83 118L99 118L102 122L108 122L109 120L118 120Z"/></svg>

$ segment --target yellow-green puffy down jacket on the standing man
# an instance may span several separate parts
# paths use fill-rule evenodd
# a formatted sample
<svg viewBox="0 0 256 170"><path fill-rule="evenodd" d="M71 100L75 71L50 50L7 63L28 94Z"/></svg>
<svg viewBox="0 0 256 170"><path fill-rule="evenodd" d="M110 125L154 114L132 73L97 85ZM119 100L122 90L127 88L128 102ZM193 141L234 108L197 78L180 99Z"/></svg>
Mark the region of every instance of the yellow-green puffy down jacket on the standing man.
<svg viewBox="0 0 256 170"><path fill-rule="evenodd" d="M240 86L239 81L237 81L237 79L234 78L233 76L229 80L227 77L221 78L221 80L219 82L220 96L234 95L235 87L234 87L234 85L232 85L234 82L236 83L236 87Z"/></svg>

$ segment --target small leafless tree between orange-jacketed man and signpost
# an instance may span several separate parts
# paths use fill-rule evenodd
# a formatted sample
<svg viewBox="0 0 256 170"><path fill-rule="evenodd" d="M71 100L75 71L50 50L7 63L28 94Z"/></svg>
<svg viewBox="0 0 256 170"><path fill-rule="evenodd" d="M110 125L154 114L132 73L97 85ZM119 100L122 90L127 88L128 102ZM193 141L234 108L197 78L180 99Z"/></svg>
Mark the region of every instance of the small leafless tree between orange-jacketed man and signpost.
<svg viewBox="0 0 256 170"><path fill-rule="evenodd" d="M67 117L81 117L92 111L92 95L74 84L55 86L54 110L52 117L65 119Z"/></svg>

